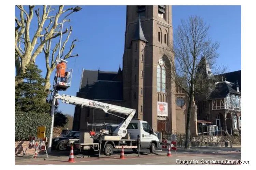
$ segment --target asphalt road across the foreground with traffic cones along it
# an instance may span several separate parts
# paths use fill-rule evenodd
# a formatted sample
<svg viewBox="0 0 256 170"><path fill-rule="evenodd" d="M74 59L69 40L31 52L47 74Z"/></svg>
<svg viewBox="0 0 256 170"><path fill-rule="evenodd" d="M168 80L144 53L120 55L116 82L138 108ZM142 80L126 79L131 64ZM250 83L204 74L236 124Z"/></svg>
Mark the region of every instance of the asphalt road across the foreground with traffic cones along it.
<svg viewBox="0 0 256 170"><path fill-rule="evenodd" d="M188 164L239 164L239 162L227 162L241 160L240 152L233 153L211 153L211 154L172 154L166 155L140 155L126 154L125 159L120 159L120 155L109 157L80 157L74 156L74 163L68 162L68 157L55 159L30 159L16 162L16 165L188 165ZM215 161L215 162L214 162Z"/></svg>

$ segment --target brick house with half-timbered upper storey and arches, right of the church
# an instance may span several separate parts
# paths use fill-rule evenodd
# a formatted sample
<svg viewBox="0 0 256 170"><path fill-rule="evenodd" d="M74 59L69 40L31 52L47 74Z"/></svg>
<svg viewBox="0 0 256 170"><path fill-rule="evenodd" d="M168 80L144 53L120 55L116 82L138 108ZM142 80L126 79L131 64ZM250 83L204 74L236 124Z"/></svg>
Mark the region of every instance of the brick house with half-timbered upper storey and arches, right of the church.
<svg viewBox="0 0 256 170"><path fill-rule="evenodd" d="M215 81L209 95L204 101L197 101L197 118L199 133L204 125L216 125L219 131L229 134L241 134L241 70L228 72L215 77L222 77Z"/></svg>

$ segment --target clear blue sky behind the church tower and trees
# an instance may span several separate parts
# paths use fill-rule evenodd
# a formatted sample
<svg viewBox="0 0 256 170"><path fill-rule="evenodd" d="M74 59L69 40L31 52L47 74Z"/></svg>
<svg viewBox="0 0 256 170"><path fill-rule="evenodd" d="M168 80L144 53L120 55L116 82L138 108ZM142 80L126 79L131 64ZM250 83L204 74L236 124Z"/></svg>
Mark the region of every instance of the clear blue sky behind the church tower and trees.
<svg viewBox="0 0 256 170"><path fill-rule="evenodd" d="M79 57L68 60L68 68L73 68L72 85L64 92L72 96L76 96L79 90L83 68L98 70L100 67L104 71L117 71L119 64L122 68L124 52L126 6L81 7L83 9L70 15L67 19L71 21L64 24L64 29L73 27L66 51L71 41L78 39L73 54L78 53ZM15 7L15 15L18 12ZM172 6L174 32L180 20L190 15L198 15L210 24L210 36L220 43L217 64L227 65L228 71L241 70L241 6ZM33 20L31 33L36 26L37 21ZM58 41L57 38L53 40L55 43ZM37 57L36 64L44 76L46 69L43 53ZM74 114L73 105L60 103L59 109L65 114Z"/></svg>

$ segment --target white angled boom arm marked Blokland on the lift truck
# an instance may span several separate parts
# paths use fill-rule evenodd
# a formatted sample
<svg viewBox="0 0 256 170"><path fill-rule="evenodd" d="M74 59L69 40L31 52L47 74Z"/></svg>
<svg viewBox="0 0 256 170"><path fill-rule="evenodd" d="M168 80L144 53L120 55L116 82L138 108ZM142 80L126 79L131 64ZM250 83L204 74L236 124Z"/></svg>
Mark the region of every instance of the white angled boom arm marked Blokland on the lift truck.
<svg viewBox="0 0 256 170"><path fill-rule="evenodd" d="M127 126L131 122L133 116L136 113L135 109L116 106L116 105L108 104L108 103L97 102L94 100L83 99L83 98L69 96L69 95L65 95L65 94L62 94L62 96L60 96L60 94L57 93L54 96L54 98L62 100L62 103L78 105L78 106L81 106L81 108L83 108L83 106L85 106L85 107L89 107L89 108L93 108L93 109L103 110L105 113L108 113L108 114L111 114L114 116L117 116L117 115L112 114L112 113L117 113L117 114L122 114L122 115L127 116L126 118L117 116L117 117L124 119L122 121L122 123L120 123L119 126L114 131L114 134L117 134L117 136L121 136L121 137L126 136ZM112 112L112 113L110 113L110 112Z"/></svg>

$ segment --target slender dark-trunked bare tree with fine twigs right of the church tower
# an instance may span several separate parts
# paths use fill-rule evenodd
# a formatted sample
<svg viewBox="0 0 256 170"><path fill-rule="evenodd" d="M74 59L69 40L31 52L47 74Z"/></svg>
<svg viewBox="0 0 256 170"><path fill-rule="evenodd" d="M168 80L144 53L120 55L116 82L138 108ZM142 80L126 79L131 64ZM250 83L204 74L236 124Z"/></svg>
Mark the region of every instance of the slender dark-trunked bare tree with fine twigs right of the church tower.
<svg viewBox="0 0 256 170"><path fill-rule="evenodd" d="M172 67L166 70L172 82L180 87L188 97L186 141L189 149L191 114L196 114L195 95L207 96L211 86L217 81L214 75L223 73L226 68L216 67L218 42L209 37L210 26L198 16L181 20L174 33L171 50L165 54ZM213 70L213 71L212 71ZM175 91L172 91L175 93Z"/></svg>

